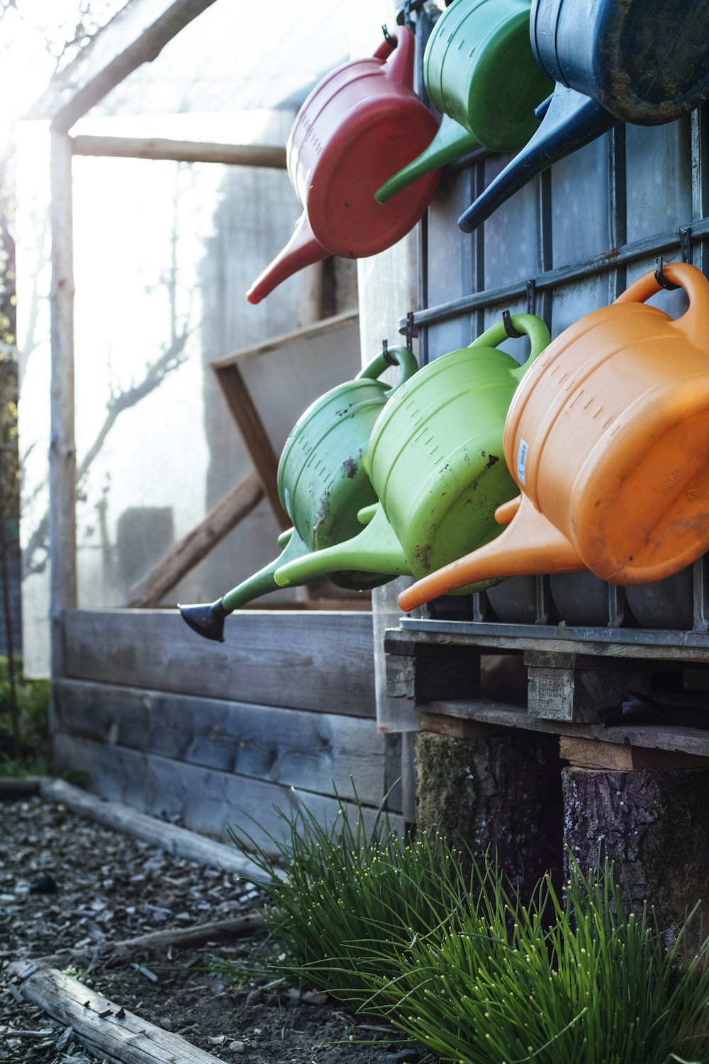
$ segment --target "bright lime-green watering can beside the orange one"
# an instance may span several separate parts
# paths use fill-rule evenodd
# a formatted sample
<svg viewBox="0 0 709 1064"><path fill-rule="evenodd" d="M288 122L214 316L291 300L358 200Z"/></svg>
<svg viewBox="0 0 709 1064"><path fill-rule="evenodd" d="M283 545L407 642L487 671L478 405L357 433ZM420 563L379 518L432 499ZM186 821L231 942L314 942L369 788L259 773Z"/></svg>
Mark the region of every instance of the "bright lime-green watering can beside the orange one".
<svg viewBox="0 0 709 1064"><path fill-rule="evenodd" d="M283 564L276 584L338 570L418 577L500 534L495 509L519 493L503 453L505 417L518 384L550 343L546 326L534 315L512 315L511 323L531 343L524 365L496 350L509 335L501 321L399 389L367 449L379 502L360 512L366 528L353 539Z"/></svg>

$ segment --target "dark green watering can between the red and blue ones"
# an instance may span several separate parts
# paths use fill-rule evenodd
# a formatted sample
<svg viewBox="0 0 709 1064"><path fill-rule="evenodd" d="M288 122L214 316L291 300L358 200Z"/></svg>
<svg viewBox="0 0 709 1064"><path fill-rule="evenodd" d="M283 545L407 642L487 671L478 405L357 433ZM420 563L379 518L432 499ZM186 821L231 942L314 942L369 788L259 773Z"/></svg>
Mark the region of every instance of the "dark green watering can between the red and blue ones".
<svg viewBox="0 0 709 1064"><path fill-rule="evenodd" d="M436 23L423 59L438 132L418 159L375 193L385 203L418 178L475 148L512 151L537 131L535 107L553 83L529 41L531 0L454 0Z"/></svg>

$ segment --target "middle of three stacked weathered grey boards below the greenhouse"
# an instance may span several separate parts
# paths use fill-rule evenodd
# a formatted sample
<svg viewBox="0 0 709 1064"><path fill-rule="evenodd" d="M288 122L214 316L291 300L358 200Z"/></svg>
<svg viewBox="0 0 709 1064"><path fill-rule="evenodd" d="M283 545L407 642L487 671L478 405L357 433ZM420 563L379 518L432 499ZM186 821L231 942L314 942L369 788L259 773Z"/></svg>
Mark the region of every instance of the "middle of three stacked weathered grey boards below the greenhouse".
<svg viewBox="0 0 709 1064"><path fill-rule="evenodd" d="M366 803L386 789L386 741L374 720L63 680L54 687L58 731L108 747Z"/></svg>

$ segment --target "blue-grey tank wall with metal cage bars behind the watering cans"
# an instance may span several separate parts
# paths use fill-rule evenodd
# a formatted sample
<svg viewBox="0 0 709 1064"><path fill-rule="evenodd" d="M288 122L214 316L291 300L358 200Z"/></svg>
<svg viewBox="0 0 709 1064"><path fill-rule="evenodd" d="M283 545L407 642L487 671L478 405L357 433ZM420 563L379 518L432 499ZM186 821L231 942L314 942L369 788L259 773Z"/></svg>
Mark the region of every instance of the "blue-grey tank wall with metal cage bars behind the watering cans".
<svg viewBox="0 0 709 1064"><path fill-rule="evenodd" d="M424 299L412 323L423 361L470 344L505 309L534 310L556 336L611 302L658 255L691 261L709 275L708 129L706 107L666 126L619 126L542 173L472 235L461 233L456 219L510 156L479 151L449 167L422 242ZM662 292L656 302L673 316L687 305L681 290ZM510 353L519 356L519 346ZM518 583L520 615L508 622L495 620L485 595L474 596L471 620L455 622L455 630L527 639L536 633L543 648L561 622L567 631L581 626L590 649L596 644L598 652L615 639L626 647L682 646L689 656L704 658L708 572L703 558L661 582L660 596L672 603L671 622L655 602L660 585L626 593L591 573L573 573L536 578L534 602L529 583ZM583 601L586 618L574 618L573 605L565 611L571 618L563 616L559 602L574 598ZM441 621L424 617L403 625L426 629Z"/></svg>

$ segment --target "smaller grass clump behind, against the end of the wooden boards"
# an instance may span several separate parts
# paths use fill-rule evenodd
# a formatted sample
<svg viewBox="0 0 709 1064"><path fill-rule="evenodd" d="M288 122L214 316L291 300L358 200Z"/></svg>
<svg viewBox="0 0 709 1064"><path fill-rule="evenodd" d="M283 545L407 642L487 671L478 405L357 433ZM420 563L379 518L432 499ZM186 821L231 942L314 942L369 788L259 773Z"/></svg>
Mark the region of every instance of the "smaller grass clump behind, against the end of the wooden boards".
<svg viewBox="0 0 709 1064"><path fill-rule="evenodd" d="M459 904L465 883L442 836L401 838L383 807L368 826L358 798L338 803L330 826L303 808L278 810L286 832L269 836L275 858L251 835L229 833L266 875L273 969L356 1007L371 995L368 977L394 978L399 958Z"/></svg>

